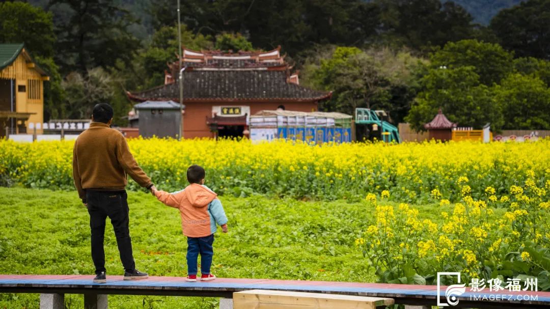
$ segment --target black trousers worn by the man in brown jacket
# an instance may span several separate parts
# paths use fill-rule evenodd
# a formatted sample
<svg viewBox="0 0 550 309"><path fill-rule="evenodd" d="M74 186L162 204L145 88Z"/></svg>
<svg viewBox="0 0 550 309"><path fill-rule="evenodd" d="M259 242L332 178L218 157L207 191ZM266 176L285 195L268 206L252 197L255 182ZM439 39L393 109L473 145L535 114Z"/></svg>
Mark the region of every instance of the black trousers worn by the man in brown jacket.
<svg viewBox="0 0 550 309"><path fill-rule="evenodd" d="M96 267L96 274L106 272L103 239L105 238L105 220L107 217L111 219L113 224L120 261L122 261L125 271L133 272L135 269L130 229L128 228L130 209L128 208L127 198L126 191L86 190L92 232L92 260Z"/></svg>

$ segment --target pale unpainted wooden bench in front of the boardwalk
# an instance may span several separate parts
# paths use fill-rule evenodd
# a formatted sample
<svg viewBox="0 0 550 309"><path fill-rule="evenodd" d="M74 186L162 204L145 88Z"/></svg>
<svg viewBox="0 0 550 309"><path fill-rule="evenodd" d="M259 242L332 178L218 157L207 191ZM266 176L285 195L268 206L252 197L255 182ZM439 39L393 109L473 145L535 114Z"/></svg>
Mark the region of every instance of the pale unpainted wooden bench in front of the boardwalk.
<svg viewBox="0 0 550 309"><path fill-rule="evenodd" d="M376 309L393 305L382 297L250 290L233 293L234 309Z"/></svg>

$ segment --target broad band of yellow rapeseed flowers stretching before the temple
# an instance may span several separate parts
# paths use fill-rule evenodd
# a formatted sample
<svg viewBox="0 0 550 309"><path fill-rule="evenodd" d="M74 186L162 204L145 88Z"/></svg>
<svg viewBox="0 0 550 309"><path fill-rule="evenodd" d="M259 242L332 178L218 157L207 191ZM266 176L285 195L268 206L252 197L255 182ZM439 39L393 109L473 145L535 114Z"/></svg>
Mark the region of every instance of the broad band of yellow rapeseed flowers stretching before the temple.
<svg viewBox="0 0 550 309"><path fill-rule="evenodd" d="M456 202L465 192L474 198L485 196L488 186L494 188L494 197L509 196L512 185L527 179L527 170L534 173L532 181L543 186L550 167L550 140L311 146L288 141L253 145L235 140L134 139L129 145L141 167L164 190L186 186L186 168L199 164L219 194L308 200L359 201L374 194L406 203L427 203L441 196L443 202ZM0 185L72 190L72 149L71 141L0 141ZM463 178L468 179L466 187L457 181ZM131 182L130 189L139 188Z"/></svg>

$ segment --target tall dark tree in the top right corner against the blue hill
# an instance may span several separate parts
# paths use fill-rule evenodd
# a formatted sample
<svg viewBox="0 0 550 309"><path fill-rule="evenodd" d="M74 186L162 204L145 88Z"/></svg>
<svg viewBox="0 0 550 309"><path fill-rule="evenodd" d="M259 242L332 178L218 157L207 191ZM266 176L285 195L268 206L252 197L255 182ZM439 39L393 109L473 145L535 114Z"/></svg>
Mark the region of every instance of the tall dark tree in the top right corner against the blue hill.
<svg viewBox="0 0 550 309"><path fill-rule="evenodd" d="M500 11L490 27L500 44L519 57L550 60L550 1L523 1Z"/></svg>

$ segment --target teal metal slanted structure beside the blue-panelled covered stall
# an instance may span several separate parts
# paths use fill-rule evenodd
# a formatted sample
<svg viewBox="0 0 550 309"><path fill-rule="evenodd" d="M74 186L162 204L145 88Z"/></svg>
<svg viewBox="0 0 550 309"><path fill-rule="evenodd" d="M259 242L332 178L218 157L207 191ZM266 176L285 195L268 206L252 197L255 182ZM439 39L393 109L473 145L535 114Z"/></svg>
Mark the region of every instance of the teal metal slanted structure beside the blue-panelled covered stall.
<svg viewBox="0 0 550 309"><path fill-rule="evenodd" d="M397 128L381 119L381 117L386 115L384 111L373 111L370 108L356 108L355 125L368 125L371 134L379 131L379 137L384 142L401 142Z"/></svg>

